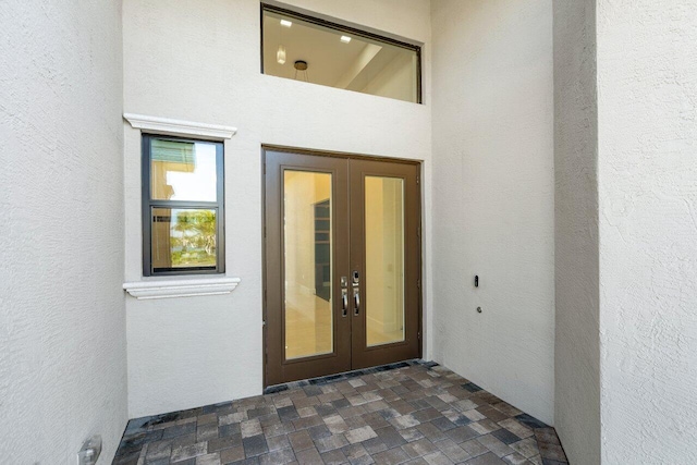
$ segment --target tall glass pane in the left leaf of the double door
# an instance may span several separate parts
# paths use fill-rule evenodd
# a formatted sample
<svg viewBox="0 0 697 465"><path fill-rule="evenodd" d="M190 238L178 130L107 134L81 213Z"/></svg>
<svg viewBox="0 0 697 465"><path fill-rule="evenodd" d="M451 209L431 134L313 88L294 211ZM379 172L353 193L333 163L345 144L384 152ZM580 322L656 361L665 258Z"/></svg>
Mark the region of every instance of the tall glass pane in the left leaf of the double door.
<svg viewBox="0 0 697 465"><path fill-rule="evenodd" d="M283 172L285 358L333 352L331 174Z"/></svg>

